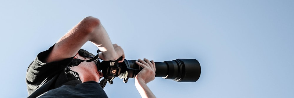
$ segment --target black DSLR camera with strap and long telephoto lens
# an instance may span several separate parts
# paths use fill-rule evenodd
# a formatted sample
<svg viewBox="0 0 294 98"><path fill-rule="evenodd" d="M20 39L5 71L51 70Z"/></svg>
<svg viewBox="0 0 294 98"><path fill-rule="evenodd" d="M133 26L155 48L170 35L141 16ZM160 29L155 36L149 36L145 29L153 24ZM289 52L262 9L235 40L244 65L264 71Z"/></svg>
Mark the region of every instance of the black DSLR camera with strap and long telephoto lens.
<svg viewBox="0 0 294 98"><path fill-rule="evenodd" d="M97 53L99 54L99 50ZM100 81L102 88L105 87L106 82L112 84L114 77L123 79L123 82L128 82L128 78L135 78L135 76L143 69L135 62L136 60L122 60L120 57L116 61L101 61L97 56L87 60L87 62L97 61L96 65L98 71L103 73L103 79ZM72 66L77 66L84 60L74 59ZM69 66L71 67L71 66ZM155 62L156 72L155 77L163 77L178 82L196 82L201 73L200 63L196 59L176 59L173 61Z"/></svg>

